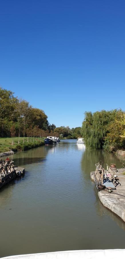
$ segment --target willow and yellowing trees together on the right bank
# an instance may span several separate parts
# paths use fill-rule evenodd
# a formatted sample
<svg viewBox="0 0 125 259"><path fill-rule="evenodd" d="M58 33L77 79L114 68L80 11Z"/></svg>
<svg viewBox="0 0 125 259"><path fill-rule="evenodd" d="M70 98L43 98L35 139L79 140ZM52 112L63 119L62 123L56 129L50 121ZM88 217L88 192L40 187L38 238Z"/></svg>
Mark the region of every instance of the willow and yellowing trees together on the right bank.
<svg viewBox="0 0 125 259"><path fill-rule="evenodd" d="M82 123L86 148L116 151L125 149L125 112L120 110L86 112Z"/></svg>

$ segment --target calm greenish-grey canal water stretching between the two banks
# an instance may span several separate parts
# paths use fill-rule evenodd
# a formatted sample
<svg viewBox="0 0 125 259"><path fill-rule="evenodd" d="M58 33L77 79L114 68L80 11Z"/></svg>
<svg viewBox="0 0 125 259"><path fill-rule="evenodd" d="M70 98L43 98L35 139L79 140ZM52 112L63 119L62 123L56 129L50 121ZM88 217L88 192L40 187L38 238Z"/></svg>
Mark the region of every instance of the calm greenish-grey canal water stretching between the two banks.
<svg viewBox="0 0 125 259"><path fill-rule="evenodd" d="M62 250L125 248L125 223L98 199L95 163L120 160L76 140L18 152L25 175L0 191L0 257Z"/></svg>

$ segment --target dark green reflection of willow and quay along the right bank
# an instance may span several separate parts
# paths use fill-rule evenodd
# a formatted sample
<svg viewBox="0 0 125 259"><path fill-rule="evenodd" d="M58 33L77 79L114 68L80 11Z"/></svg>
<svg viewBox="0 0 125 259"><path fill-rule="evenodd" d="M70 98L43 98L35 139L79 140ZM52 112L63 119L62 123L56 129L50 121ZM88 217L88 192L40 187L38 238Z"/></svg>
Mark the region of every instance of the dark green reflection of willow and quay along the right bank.
<svg viewBox="0 0 125 259"><path fill-rule="evenodd" d="M98 192L96 189L96 186L94 184L94 181L91 181L91 191L90 189L90 172L95 171L96 166L95 163L98 163L98 161L102 161L104 167L106 168L106 163L110 165L110 163L116 163L117 168L121 167L121 162L119 160L119 157L115 156L112 153L107 153L103 150L85 150L82 153L82 159L81 159L81 169L83 172L84 182L87 186L87 195L92 195L91 192L93 192L93 195L95 197L94 200L94 207L96 209L96 215L98 215L100 218L110 216L110 218L116 222L116 224L122 228L125 231L125 223L114 213L112 213L110 210L108 210L106 207L102 205L98 198ZM88 187L89 186L89 187ZM85 188L85 187L84 187Z"/></svg>

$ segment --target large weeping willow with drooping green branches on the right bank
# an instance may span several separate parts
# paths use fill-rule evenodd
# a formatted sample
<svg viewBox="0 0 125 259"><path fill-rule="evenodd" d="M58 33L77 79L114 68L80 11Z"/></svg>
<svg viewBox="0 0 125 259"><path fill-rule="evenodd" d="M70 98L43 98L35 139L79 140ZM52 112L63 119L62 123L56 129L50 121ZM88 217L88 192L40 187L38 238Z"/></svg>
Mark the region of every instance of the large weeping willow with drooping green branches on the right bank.
<svg viewBox="0 0 125 259"><path fill-rule="evenodd" d="M86 148L101 149L103 147L108 133L108 125L111 121L114 121L117 113L117 110L102 110L95 113L85 112L82 135Z"/></svg>

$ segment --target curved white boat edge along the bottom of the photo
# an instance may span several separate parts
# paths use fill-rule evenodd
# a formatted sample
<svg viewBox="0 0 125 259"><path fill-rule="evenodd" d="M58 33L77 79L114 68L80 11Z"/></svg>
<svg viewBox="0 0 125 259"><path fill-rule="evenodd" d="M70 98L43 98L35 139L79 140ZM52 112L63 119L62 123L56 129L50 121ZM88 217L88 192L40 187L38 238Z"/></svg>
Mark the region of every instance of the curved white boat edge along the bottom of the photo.
<svg viewBox="0 0 125 259"><path fill-rule="evenodd" d="M4 258L23 258L23 259L124 259L125 249L113 250L75 250L63 252L49 252L41 254L26 254L18 256L7 256Z"/></svg>

